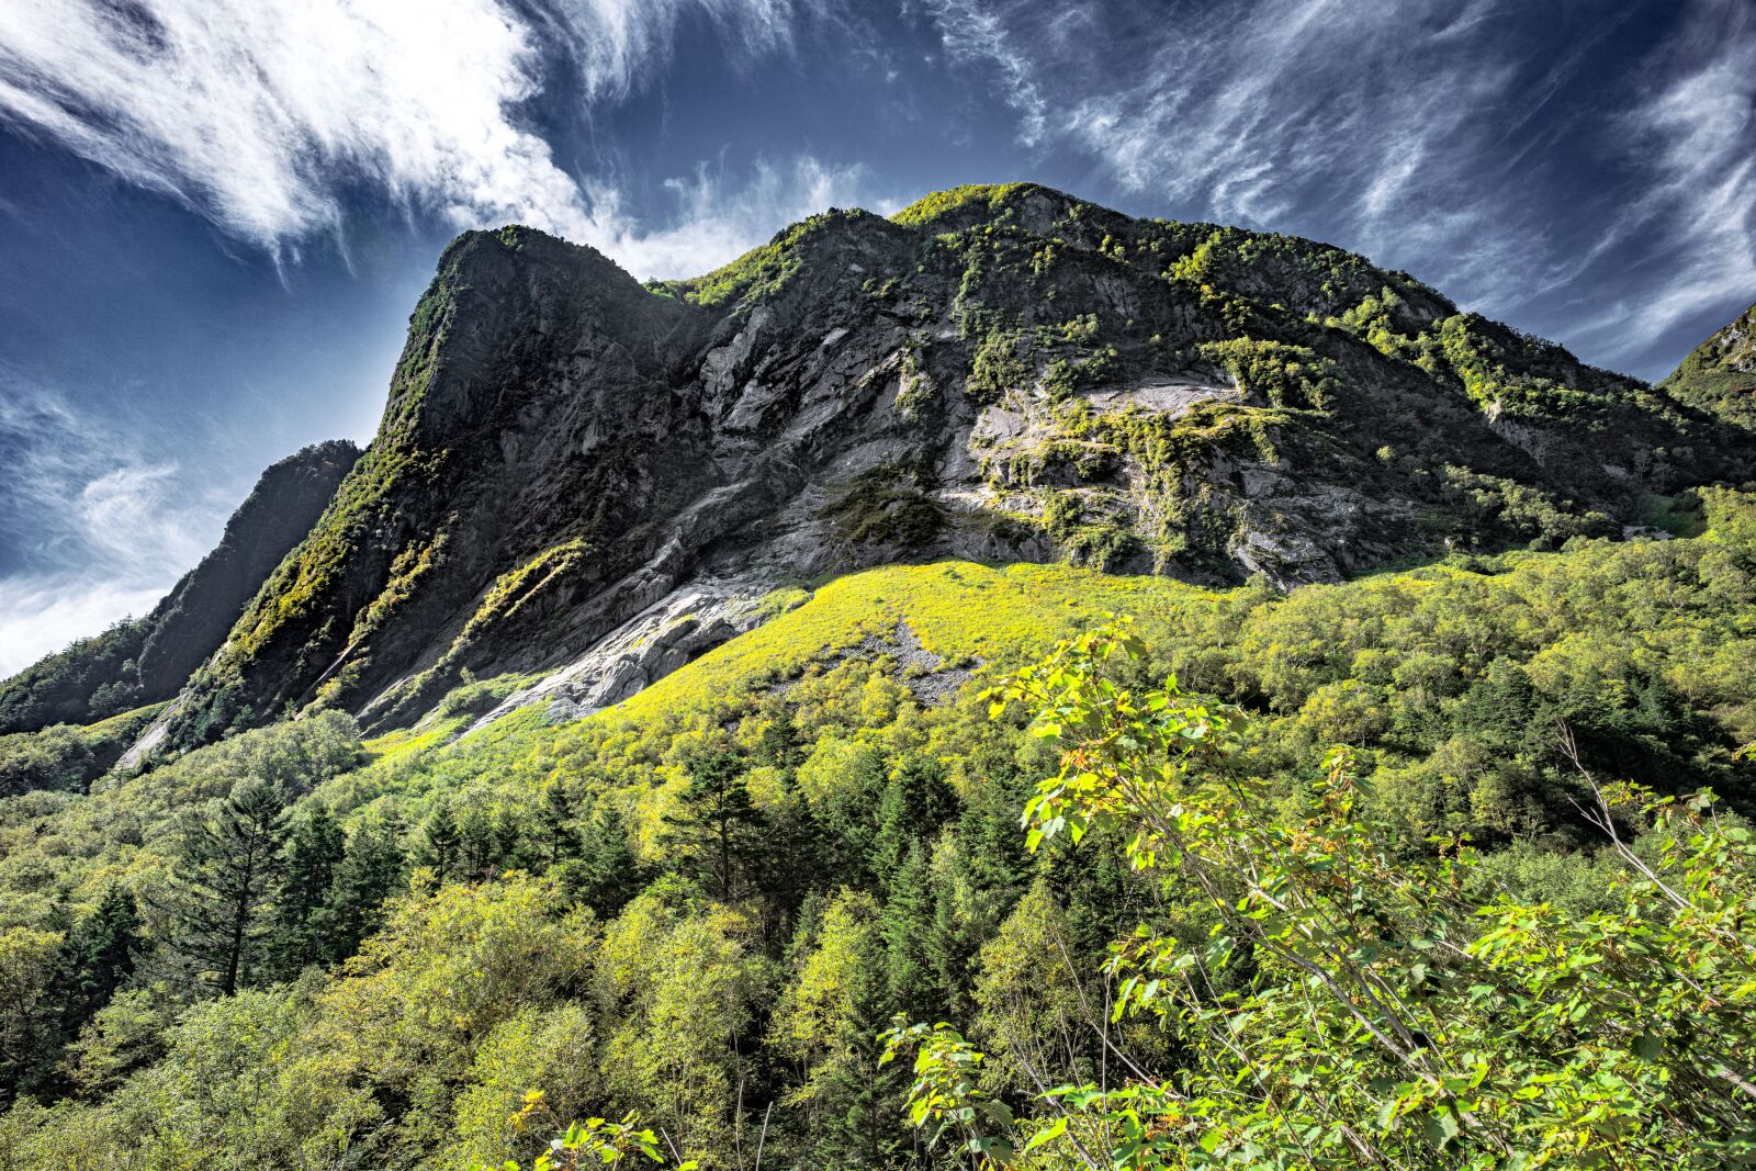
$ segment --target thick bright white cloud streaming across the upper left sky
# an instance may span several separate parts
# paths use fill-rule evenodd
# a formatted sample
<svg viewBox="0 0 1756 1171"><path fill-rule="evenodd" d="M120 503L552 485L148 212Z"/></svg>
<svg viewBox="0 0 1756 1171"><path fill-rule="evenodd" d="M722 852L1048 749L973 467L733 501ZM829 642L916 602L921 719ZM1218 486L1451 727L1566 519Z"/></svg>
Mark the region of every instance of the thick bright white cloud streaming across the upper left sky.
<svg viewBox="0 0 1756 1171"><path fill-rule="evenodd" d="M690 242L694 263L723 260L734 218L636 219L557 162L536 100L564 90L588 114L625 98L690 21L748 63L785 53L801 19L792 0L14 0L0 118L277 256L339 232L365 188L458 228L522 221L674 269ZM853 176L795 167L804 191Z"/></svg>

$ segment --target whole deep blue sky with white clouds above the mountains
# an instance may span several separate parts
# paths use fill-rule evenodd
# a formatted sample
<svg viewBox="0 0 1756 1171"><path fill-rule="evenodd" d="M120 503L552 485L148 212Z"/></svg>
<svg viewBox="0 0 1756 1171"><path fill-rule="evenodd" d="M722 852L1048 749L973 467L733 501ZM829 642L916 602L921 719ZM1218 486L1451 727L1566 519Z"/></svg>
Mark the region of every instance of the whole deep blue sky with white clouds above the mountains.
<svg viewBox="0 0 1756 1171"><path fill-rule="evenodd" d="M1011 179L1658 379L1756 300L1756 0L5 0L0 674L365 442L460 230L676 277Z"/></svg>

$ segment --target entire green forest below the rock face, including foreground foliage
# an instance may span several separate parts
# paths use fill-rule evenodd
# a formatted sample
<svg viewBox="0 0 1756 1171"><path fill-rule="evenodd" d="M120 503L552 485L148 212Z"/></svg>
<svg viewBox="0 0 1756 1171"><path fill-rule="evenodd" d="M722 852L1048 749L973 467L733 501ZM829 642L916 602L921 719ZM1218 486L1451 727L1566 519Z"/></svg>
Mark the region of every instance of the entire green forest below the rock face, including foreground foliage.
<svg viewBox="0 0 1756 1171"><path fill-rule="evenodd" d="M0 1162L1742 1166L1756 497L1672 507L892 565L555 725L7 737Z"/></svg>

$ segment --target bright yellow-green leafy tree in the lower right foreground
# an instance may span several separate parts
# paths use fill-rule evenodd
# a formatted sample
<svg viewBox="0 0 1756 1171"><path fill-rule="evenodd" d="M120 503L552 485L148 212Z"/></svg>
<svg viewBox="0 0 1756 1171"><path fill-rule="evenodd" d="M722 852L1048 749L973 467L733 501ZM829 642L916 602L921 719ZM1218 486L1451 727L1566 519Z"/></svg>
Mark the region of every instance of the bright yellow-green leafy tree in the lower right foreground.
<svg viewBox="0 0 1756 1171"><path fill-rule="evenodd" d="M961 1036L899 1025L918 1125L961 1129L999 1166L1033 1148L1138 1169L1756 1159L1756 844L1710 795L1603 785L1563 729L1582 816L1616 857L1608 909L1484 897L1473 851L1408 858L1347 750L1277 794L1238 767L1236 709L1113 681L1140 653L1126 630L1085 636L996 708L1026 700L1064 748L1026 808L1033 846L1120 832L1162 906L1212 916L1203 932L1147 920L1108 964L1113 1018L1171 1034L1180 1067L1057 1088L1020 1125L969 1076L983 1057ZM1635 848L1623 827L1638 823Z"/></svg>

